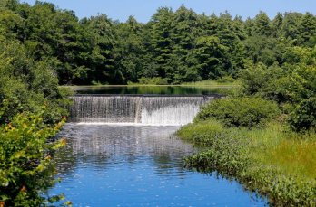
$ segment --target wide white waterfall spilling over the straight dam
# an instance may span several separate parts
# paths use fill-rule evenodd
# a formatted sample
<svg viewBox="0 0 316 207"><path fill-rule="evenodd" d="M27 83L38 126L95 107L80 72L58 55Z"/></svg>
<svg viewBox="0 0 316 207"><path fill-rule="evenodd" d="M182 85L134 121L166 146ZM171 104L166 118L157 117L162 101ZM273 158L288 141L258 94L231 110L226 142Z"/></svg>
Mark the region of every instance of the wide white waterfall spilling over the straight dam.
<svg viewBox="0 0 316 207"><path fill-rule="evenodd" d="M212 96L75 96L72 122L185 125Z"/></svg>

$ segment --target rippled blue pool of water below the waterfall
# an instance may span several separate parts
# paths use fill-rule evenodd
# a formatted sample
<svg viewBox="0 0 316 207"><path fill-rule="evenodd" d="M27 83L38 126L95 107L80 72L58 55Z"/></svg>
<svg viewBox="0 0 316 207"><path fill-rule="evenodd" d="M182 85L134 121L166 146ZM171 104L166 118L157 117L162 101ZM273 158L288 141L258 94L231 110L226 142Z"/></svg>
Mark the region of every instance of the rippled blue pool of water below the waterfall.
<svg viewBox="0 0 316 207"><path fill-rule="evenodd" d="M179 127L74 125L55 160L74 206L265 206L236 182L183 167L196 152L173 133Z"/></svg>

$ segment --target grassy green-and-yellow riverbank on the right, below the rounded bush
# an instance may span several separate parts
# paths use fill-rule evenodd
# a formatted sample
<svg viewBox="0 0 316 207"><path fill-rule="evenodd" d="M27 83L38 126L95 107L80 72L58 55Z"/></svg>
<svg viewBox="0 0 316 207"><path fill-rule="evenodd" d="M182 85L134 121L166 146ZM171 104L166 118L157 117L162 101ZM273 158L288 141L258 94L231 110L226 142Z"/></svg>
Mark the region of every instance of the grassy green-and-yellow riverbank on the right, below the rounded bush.
<svg viewBox="0 0 316 207"><path fill-rule="evenodd" d="M316 134L298 134L279 122L262 128L224 127L209 119L178 136L206 148L186 159L197 171L218 172L276 206L316 205Z"/></svg>

